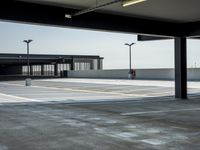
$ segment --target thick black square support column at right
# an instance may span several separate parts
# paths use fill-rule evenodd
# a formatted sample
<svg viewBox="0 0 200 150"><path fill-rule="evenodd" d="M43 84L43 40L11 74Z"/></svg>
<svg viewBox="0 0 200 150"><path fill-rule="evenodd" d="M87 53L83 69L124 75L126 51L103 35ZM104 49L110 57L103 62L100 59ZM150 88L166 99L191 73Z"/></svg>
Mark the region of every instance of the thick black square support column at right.
<svg viewBox="0 0 200 150"><path fill-rule="evenodd" d="M187 99L187 39L175 38L175 97Z"/></svg>

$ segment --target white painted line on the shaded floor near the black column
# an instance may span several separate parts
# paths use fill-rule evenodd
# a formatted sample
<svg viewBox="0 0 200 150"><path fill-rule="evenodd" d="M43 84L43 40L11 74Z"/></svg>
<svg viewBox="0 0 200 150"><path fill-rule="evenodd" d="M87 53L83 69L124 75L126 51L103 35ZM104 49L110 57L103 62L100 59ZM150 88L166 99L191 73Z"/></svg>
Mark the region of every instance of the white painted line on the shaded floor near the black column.
<svg viewBox="0 0 200 150"><path fill-rule="evenodd" d="M200 108L164 110L164 111L158 110L158 111L130 112L130 113L120 113L120 115L122 115L122 116L130 116L130 115L157 114L157 113L184 112L184 111L200 111Z"/></svg>

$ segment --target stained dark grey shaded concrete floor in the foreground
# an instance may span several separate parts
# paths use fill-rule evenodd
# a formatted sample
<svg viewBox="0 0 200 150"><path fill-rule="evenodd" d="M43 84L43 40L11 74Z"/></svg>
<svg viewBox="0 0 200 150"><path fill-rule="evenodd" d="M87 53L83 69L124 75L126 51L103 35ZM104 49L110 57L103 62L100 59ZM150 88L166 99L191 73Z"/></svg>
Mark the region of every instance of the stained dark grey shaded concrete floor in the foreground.
<svg viewBox="0 0 200 150"><path fill-rule="evenodd" d="M199 112L194 99L4 104L0 150L199 150Z"/></svg>

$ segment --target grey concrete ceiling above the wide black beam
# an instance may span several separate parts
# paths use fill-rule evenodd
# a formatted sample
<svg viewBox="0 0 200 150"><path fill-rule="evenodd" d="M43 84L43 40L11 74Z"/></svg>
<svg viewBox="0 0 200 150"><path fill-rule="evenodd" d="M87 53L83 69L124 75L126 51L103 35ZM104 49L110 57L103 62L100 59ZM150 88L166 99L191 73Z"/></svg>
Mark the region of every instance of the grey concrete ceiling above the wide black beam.
<svg viewBox="0 0 200 150"><path fill-rule="evenodd" d="M65 8L86 9L96 5L96 0L21 0L31 3L54 5ZM113 0L98 0L98 4ZM98 10L101 13L119 16L187 23L200 21L200 0L147 0L146 2L122 7L121 3Z"/></svg>

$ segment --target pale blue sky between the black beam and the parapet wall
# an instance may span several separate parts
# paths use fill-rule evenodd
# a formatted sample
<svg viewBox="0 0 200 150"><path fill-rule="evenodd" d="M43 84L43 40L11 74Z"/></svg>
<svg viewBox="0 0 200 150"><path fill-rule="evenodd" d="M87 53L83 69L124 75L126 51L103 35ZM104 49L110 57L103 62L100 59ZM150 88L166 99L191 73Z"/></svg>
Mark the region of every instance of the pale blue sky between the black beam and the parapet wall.
<svg viewBox="0 0 200 150"><path fill-rule="evenodd" d="M33 39L35 54L100 55L104 69L129 67L128 47L132 47L134 68L173 68L173 40L137 42L136 35L0 22L0 52L26 53L24 39ZM188 40L188 66L200 67L200 41Z"/></svg>

